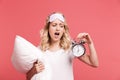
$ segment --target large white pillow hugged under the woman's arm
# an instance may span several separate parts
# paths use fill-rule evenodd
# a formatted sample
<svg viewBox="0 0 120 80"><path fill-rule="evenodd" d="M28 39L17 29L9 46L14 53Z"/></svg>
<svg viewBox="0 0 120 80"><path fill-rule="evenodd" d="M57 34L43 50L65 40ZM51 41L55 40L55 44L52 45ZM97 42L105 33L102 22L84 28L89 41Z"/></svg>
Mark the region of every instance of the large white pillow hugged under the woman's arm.
<svg viewBox="0 0 120 80"><path fill-rule="evenodd" d="M33 67L35 61L42 61L45 69L42 72L35 74L31 80L51 80L52 71L49 62L44 58L43 52L18 35L15 38L11 59L15 69L24 74Z"/></svg>

